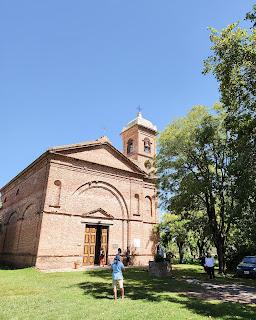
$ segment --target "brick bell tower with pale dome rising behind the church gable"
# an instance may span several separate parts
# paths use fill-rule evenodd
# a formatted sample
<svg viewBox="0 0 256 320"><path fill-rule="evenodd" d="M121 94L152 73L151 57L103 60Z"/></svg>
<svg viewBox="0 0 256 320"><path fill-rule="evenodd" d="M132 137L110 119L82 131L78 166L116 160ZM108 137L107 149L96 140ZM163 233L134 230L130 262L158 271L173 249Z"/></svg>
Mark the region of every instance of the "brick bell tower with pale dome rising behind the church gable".
<svg viewBox="0 0 256 320"><path fill-rule="evenodd" d="M156 126L144 119L141 112L121 132L123 154L147 173L152 171L156 155L156 135Z"/></svg>

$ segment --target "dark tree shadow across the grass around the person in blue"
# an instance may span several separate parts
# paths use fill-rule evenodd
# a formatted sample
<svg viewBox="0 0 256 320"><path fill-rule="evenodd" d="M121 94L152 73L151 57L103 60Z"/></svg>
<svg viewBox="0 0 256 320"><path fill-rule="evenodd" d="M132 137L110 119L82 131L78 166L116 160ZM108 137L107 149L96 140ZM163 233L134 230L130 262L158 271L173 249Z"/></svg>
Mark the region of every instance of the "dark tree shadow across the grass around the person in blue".
<svg viewBox="0 0 256 320"><path fill-rule="evenodd" d="M78 286L84 294L95 299L113 299L111 287L111 273L108 270L89 272L91 276L98 278L97 282L87 281ZM179 304L201 316L212 318L223 317L226 320L256 319L256 308L251 305L225 302L215 302L204 299L206 290L195 284L188 284L184 280L167 278L152 278L143 270L129 270L125 273L125 296L130 300L148 302L170 302ZM102 280L102 281L98 281ZM200 299L191 296L199 294Z"/></svg>

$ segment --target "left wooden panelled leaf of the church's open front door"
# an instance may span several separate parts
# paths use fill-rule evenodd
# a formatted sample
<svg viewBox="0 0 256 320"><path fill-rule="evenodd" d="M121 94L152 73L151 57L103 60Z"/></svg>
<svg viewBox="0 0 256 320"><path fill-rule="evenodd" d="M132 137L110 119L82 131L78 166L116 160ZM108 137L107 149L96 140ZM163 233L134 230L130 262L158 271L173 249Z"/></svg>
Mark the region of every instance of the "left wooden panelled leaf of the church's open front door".
<svg viewBox="0 0 256 320"><path fill-rule="evenodd" d="M85 228L83 264L86 266L94 265L96 232L96 227L86 226Z"/></svg>

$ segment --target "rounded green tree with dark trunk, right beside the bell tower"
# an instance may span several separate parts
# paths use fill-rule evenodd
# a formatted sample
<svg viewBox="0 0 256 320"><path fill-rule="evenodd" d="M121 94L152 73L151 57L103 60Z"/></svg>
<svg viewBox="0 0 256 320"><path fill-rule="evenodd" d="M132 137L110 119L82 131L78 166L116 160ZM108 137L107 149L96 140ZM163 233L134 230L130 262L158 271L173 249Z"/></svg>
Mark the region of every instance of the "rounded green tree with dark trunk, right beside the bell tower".
<svg viewBox="0 0 256 320"><path fill-rule="evenodd" d="M225 113L218 105L214 112L197 106L168 125L160 134L157 166L162 205L176 214L205 213L223 272L236 212Z"/></svg>

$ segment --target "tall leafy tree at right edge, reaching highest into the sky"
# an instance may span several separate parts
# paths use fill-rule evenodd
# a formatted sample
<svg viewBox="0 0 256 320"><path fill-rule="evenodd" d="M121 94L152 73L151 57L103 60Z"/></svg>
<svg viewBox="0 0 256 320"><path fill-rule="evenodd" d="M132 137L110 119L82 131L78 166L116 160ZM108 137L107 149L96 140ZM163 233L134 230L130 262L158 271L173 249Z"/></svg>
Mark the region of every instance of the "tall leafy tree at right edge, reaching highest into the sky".
<svg viewBox="0 0 256 320"><path fill-rule="evenodd" d="M237 208L244 221L256 212L256 5L246 15L250 28L238 23L211 29L212 55L204 73L212 72L219 84L226 111L225 126L234 157L230 166L235 181Z"/></svg>

